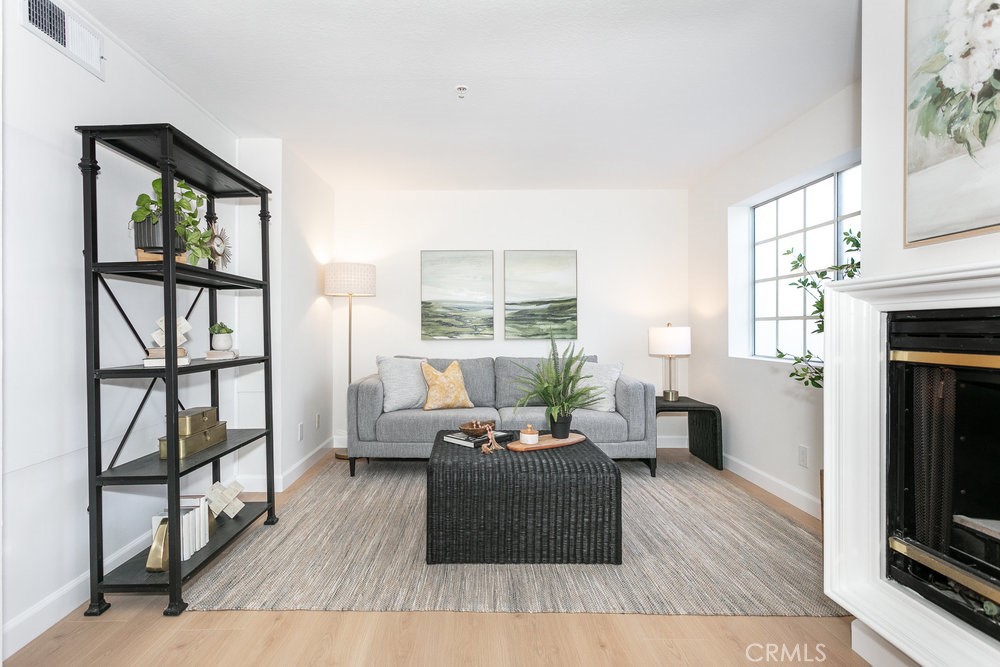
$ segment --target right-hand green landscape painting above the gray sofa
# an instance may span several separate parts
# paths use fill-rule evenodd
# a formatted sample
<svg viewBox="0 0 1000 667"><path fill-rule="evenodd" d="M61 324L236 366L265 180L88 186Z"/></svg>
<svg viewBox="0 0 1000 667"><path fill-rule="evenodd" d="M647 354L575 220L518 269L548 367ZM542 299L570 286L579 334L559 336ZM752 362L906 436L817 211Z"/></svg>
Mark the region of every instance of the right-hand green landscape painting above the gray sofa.
<svg viewBox="0 0 1000 667"><path fill-rule="evenodd" d="M576 251L504 252L504 337L576 339Z"/></svg>

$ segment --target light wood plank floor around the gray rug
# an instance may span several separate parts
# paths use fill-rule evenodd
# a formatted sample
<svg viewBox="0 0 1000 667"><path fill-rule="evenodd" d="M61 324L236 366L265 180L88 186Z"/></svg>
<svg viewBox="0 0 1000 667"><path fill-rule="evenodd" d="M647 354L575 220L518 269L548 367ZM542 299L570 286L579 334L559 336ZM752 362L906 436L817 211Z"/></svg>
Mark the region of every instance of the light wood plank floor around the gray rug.
<svg viewBox="0 0 1000 667"><path fill-rule="evenodd" d="M683 450L666 450L659 463L688 458ZM808 514L728 471L720 474L820 533ZM279 510L306 479L279 494ZM162 596L111 595L108 601L104 615L84 617L83 605L4 664L865 664L850 649L849 617L199 611L167 618Z"/></svg>

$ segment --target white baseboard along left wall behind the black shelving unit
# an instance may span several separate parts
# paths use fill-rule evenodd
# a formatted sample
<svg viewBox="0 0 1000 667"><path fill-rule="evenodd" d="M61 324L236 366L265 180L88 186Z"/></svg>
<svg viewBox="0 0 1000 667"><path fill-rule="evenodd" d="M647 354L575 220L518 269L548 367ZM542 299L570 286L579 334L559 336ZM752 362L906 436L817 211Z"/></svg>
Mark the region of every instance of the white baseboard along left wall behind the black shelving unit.
<svg viewBox="0 0 1000 667"><path fill-rule="evenodd" d="M110 571L149 545L149 531L104 559ZM3 659L24 648L31 640L61 621L90 598L90 572L84 572L66 585L33 604L3 626Z"/></svg>

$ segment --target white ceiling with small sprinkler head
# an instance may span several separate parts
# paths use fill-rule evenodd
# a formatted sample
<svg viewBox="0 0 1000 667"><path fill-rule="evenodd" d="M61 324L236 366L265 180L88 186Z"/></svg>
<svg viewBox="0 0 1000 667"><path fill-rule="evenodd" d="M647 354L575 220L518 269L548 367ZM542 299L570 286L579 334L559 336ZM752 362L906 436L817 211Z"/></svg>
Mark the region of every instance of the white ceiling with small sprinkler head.
<svg viewBox="0 0 1000 667"><path fill-rule="evenodd" d="M685 186L860 77L860 0L77 4L337 188Z"/></svg>

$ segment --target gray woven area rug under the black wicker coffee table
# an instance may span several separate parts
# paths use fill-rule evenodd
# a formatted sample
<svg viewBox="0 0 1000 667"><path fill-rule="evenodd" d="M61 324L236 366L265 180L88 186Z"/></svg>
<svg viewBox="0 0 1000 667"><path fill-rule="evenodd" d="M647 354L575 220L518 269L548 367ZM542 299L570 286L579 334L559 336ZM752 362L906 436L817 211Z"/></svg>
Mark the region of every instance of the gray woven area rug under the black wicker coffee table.
<svg viewBox="0 0 1000 667"><path fill-rule="evenodd" d="M199 610L846 614L823 595L819 540L708 466L621 469L620 566L427 565L425 464L373 461L352 479L331 458L185 597Z"/></svg>

